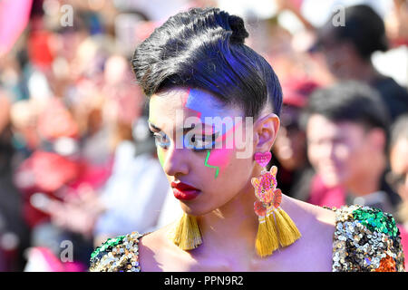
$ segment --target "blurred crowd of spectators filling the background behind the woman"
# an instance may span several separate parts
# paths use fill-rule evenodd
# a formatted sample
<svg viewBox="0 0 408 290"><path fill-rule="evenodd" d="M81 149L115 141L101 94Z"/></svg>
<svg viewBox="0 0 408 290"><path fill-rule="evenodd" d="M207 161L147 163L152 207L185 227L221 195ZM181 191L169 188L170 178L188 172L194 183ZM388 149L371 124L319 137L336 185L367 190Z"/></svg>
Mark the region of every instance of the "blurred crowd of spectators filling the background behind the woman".
<svg viewBox="0 0 408 290"><path fill-rule="evenodd" d="M86 271L107 238L180 214L131 56L194 6L245 18L279 77L280 189L390 212L408 252L408 1L3 0L0 271Z"/></svg>

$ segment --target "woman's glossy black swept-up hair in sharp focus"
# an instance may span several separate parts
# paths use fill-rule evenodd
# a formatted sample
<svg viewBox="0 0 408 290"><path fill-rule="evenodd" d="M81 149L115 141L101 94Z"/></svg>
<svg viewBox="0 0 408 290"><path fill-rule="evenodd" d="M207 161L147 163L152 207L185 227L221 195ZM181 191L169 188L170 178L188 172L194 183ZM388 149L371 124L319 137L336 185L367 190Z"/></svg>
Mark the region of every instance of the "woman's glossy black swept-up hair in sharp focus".
<svg viewBox="0 0 408 290"><path fill-rule="evenodd" d="M137 82L150 97L172 87L212 93L256 118L269 106L279 115L282 91L267 61L244 44L242 18L218 8L171 16L133 55Z"/></svg>

